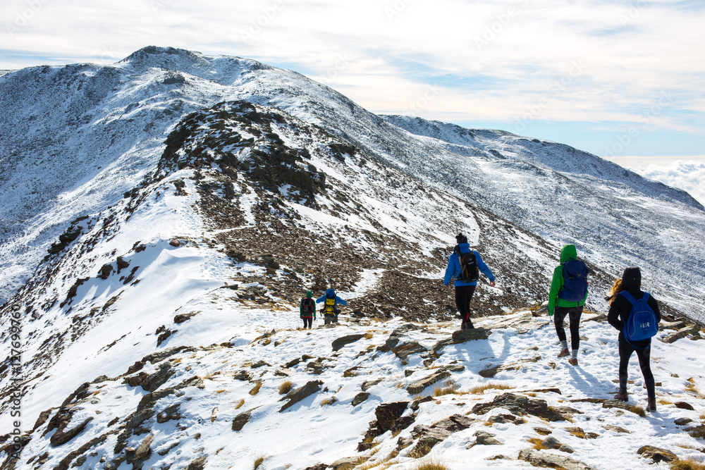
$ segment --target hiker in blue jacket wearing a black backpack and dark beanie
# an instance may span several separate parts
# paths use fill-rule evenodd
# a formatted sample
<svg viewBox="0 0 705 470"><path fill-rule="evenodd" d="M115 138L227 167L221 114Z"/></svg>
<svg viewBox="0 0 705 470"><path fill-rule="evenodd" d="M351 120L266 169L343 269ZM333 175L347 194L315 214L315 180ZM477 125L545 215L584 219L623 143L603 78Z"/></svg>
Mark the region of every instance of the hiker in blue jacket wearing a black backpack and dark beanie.
<svg viewBox="0 0 705 470"><path fill-rule="evenodd" d="M455 278L455 283L453 283L455 286L455 306L458 307L460 314L460 329L469 330L474 328L472 320L470 320L470 300L475 292L475 287L477 287L479 271L482 271L489 279L489 285L492 287L494 287L494 274L482 261L482 256L470 249L465 235L459 233L455 236L455 241L458 242L458 245L455 245L453 254L448 259L443 285L449 285L450 280Z"/></svg>

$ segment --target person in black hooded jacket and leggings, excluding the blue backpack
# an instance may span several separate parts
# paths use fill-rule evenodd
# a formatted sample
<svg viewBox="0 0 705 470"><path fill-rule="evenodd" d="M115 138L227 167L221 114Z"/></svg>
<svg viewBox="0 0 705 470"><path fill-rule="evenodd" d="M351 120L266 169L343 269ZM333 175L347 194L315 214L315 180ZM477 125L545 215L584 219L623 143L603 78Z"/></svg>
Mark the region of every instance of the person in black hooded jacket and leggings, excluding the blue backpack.
<svg viewBox="0 0 705 470"><path fill-rule="evenodd" d="M629 292L636 300L641 299L646 292L641 290L642 287L642 271L639 268L626 268L621 279L615 281L610 292L608 301L610 302L610 311L607 315L607 321L614 328L619 330L619 392L615 395L615 400L626 402L629 400L627 396L627 366L632 352L637 352L639 358L639 367L642 368L644 376L644 385L646 385L646 394L649 397L649 402L646 406L646 411L656 411L656 391L654 385L654 374L651 373L651 338L641 341L629 341L625 338L624 326L632 312L632 302L627 300L620 292ZM661 321L661 312L658 311L658 303L654 297L649 295L646 304L651 307L656 314L656 321Z"/></svg>

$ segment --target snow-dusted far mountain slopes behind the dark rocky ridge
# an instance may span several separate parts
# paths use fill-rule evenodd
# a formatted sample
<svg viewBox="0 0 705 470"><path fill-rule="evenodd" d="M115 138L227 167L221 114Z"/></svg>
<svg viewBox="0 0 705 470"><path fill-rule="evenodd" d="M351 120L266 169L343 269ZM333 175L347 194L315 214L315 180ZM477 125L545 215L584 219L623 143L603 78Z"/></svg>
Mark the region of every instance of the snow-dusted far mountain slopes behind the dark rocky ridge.
<svg viewBox="0 0 705 470"><path fill-rule="evenodd" d="M185 115L244 99L320 125L358 156L558 247L573 242L610 276L640 266L649 289L701 317L702 207L685 192L563 144L381 118L297 73L171 48L140 49L112 66L18 70L0 78L0 98L0 299L23 285L71 221L115 204L153 171ZM479 241L501 248L489 236Z"/></svg>

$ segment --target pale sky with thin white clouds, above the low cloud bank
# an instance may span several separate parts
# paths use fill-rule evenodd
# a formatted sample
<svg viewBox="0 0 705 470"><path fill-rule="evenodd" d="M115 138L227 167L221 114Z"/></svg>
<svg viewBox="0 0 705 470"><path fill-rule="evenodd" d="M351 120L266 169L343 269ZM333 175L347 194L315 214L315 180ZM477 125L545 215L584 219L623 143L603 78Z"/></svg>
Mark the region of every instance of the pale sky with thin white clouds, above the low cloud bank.
<svg viewBox="0 0 705 470"><path fill-rule="evenodd" d="M376 113L601 156L705 148L695 0L6 0L0 18L0 68L182 47L297 70Z"/></svg>

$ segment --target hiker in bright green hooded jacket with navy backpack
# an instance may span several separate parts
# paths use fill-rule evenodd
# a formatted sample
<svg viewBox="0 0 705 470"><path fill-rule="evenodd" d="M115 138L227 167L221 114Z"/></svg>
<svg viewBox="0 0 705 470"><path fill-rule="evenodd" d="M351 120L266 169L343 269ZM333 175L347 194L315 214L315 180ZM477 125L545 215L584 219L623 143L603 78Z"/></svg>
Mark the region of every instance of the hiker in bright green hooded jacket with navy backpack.
<svg viewBox="0 0 705 470"><path fill-rule="evenodd" d="M587 275L590 270L584 261L577 259L575 245L565 245L560 250L560 264L553 270L551 290L548 292L548 315L553 316L560 352L558 357L571 355L568 363L577 366L577 351L580 348L580 315L587 299ZM563 329L563 319L570 319L570 347Z"/></svg>

